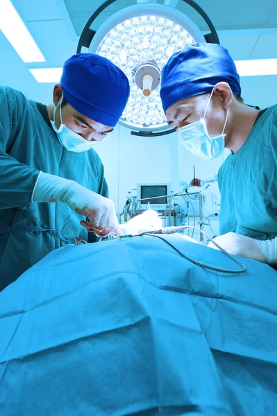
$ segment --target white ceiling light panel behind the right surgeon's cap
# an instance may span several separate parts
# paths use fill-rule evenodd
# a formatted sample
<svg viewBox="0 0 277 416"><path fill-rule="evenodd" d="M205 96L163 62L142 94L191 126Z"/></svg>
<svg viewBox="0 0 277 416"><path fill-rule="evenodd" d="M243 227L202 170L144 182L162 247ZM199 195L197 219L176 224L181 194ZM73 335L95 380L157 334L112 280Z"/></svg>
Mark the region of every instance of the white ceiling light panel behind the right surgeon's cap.
<svg viewBox="0 0 277 416"><path fill-rule="evenodd" d="M235 61L240 76L276 75L277 59L251 59Z"/></svg>

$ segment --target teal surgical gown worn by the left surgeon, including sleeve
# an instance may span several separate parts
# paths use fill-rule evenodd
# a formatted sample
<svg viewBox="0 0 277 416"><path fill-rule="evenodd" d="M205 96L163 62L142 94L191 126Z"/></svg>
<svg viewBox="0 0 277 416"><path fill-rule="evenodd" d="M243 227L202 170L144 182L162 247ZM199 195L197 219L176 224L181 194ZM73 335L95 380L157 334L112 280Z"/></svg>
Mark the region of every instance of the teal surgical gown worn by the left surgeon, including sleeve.
<svg viewBox="0 0 277 416"><path fill-rule="evenodd" d="M46 106L0 87L0 291L52 250L88 239L83 216L67 205L31 202L40 171L108 196L96 152L68 152L49 126Z"/></svg>

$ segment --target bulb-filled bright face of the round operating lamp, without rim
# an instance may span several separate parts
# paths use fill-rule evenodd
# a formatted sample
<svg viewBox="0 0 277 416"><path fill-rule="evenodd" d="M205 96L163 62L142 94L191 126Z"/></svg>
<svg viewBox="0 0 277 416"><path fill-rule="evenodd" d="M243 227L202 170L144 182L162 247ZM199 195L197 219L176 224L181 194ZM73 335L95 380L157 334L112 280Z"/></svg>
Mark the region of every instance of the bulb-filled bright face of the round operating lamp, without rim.
<svg viewBox="0 0 277 416"><path fill-rule="evenodd" d="M131 85L121 121L151 130L167 125L159 94L161 71L174 52L194 42L185 28L155 15L126 19L108 31L96 53L121 68Z"/></svg>

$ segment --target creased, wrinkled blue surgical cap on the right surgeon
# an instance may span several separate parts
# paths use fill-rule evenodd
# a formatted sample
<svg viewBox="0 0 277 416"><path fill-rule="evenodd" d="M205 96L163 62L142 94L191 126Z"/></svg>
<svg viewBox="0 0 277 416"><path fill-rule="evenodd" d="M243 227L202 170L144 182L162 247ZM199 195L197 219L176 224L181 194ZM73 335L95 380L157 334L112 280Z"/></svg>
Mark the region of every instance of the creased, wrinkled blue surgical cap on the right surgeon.
<svg viewBox="0 0 277 416"><path fill-rule="evenodd" d="M240 76L227 49L219 44L189 44L162 69L162 107L166 112L178 101L212 91L221 81L240 96Z"/></svg>

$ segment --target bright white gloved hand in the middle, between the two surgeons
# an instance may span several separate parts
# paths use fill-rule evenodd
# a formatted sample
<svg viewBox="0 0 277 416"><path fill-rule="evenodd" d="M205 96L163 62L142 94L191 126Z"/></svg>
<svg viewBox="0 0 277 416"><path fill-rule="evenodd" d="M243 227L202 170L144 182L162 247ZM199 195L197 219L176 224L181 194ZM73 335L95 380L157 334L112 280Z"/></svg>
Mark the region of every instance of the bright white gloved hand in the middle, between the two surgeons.
<svg viewBox="0 0 277 416"><path fill-rule="evenodd" d="M128 223L119 225L124 235L142 234L142 232L157 231L162 228L162 220L156 211L147 210L132 218Z"/></svg>

